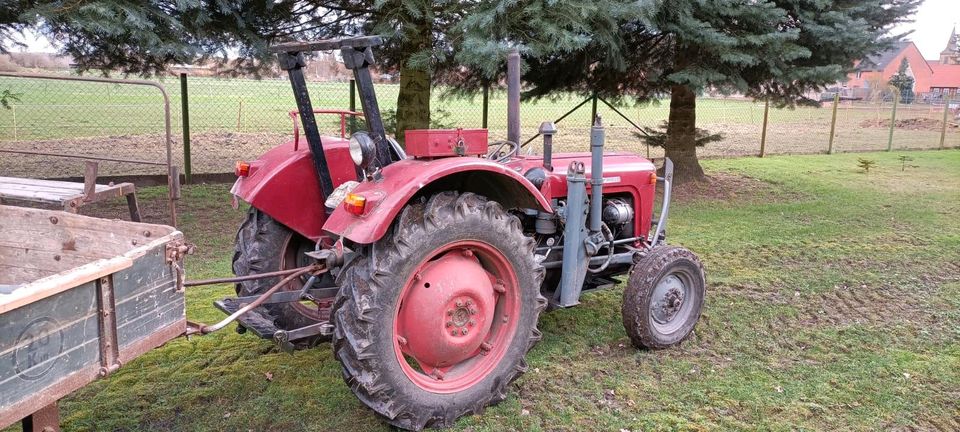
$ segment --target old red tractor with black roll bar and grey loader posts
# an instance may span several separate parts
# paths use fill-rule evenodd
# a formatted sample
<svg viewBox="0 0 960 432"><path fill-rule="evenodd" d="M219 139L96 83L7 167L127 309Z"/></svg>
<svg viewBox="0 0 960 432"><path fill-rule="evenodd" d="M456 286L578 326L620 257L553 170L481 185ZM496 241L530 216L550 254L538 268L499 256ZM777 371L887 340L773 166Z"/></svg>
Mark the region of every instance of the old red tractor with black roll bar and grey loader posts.
<svg viewBox="0 0 960 432"><path fill-rule="evenodd" d="M483 129L416 130L401 148L384 132L368 69L380 43L274 48L307 146L298 131L238 163L233 193L250 212L234 272L278 275L244 280L237 298L217 302L239 316L238 331L285 349L331 341L357 397L415 430L503 400L540 340L540 313L574 306L618 276L629 275L622 313L634 345L665 348L691 333L705 278L696 255L664 240L669 160L658 177L647 159L604 153L599 122L590 152L553 154L556 129L544 123L543 156L521 155L516 53L506 141L489 150ZM335 49L354 73L367 128L349 139L320 136L303 75L302 53ZM291 270L310 264L325 271Z"/></svg>

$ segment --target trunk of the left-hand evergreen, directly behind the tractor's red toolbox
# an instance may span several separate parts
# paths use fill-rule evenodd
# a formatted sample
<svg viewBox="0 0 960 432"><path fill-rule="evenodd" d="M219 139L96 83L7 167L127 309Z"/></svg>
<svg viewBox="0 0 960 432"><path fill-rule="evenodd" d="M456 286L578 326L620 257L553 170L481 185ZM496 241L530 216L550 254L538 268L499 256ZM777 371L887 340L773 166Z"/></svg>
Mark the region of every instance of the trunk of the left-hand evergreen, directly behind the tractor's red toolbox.
<svg viewBox="0 0 960 432"><path fill-rule="evenodd" d="M425 15L426 16L426 15ZM403 144L403 131L430 127L430 72L426 67L411 67L407 61L415 53L430 49L432 20L408 23L403 43L403 63L400 66L400 92L397 95L396 138Z"/></svg>

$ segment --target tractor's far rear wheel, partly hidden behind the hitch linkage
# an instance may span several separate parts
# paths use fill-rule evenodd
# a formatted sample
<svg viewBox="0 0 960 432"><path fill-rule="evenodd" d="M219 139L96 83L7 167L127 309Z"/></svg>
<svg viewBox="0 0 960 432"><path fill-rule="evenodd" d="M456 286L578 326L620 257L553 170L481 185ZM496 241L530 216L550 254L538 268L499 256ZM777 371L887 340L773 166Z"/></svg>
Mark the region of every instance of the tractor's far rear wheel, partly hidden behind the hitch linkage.
<svg viewBox="0 0 960 432"><path fill-rule="evenodd" d="M313 249L312 241L251 207L247 219L237 230L233 273L246 276L309 265L309 258L303 253ZM280 282L279 277L239 282L236 284L236 292L238 296L253 296L270 289L277 282ZM306 277L295 280L282 290L299 290L305 282ZM269 304L255 309L254 312L272 319L277 328L293 330L319 321L328 321L332 305L333 298L327 298L319 299L316 303L304 301ZM329 337L317 336L299 341L295 345L304 348L323 340L329 340Z"/></svg>

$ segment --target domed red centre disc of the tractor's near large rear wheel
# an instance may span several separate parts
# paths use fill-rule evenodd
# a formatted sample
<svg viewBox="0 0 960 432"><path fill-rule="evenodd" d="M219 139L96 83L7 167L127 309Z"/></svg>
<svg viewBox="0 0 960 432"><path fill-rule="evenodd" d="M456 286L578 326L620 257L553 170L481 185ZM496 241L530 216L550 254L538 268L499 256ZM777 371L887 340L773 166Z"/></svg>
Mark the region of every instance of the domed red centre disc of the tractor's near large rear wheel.
<svg viewBox="0 0 960 432"><path fill-rule="evenodd" d="M493 323L495 282L470 249L421 266L397 316L403 353L426 373L475 356Z"/></svg>

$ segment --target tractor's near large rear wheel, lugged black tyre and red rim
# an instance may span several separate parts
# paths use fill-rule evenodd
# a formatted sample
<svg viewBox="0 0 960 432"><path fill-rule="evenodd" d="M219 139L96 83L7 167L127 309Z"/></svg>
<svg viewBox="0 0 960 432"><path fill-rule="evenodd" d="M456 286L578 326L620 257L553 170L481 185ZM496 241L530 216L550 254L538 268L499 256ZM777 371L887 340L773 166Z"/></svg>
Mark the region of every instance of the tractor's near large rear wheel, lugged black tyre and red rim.
<svg viewBox="0 0 960 432"><path fill-rule="evenodd" d="M341 271L333 348L357 397L394 426L451 426L506 397L540 340L544 269L500 204L442 192Z"/></svg>

